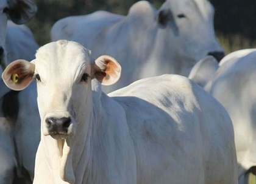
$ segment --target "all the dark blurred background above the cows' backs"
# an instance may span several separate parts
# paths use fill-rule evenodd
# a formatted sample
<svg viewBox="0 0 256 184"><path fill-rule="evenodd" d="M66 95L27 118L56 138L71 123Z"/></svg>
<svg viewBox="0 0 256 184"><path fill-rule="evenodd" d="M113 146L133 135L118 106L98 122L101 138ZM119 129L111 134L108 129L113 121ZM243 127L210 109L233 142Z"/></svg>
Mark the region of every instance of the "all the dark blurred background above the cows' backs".
<svg viewBox="0 0 256 184"><path fill-rule="evenodd" d="M84 15L96 10L126 15L135 0L34 0L38 13L27 26L38 44L50 41L55 21L70 15ZM163 0L149 0L157 9ZM256 0L210 0L215 7L215 31L226 53L256 47Z"/></svg>

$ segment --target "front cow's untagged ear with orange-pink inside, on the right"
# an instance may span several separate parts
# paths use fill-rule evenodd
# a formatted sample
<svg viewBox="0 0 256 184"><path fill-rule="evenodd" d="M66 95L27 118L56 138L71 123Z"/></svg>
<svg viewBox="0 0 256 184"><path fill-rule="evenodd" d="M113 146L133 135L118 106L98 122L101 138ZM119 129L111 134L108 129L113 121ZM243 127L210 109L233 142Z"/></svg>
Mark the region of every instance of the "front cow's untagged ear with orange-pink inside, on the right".
<svg viewBox="0 0 256 184"><path fill-rule="evenodd" d="M94 61L92 74L93 78L96 78L103 85L108 86L119 80L121 66L111 56L99 56L99 58Z"/></svg>

